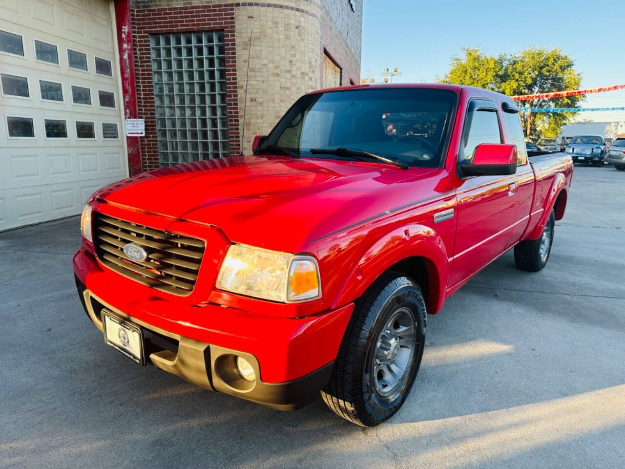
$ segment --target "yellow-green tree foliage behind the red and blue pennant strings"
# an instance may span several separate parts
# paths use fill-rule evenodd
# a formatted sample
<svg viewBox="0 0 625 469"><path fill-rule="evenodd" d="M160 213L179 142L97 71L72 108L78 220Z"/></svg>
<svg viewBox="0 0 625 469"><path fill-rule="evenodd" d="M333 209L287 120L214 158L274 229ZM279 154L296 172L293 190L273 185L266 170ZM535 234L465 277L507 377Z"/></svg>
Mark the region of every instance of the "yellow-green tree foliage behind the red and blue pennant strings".
<svg viewBox="0 0 625 469"><path fill-rule="evenodd" d="M528 48L517 53L488 56L479 49L463 48L451 58L442 82L486 88L509 96L577 89L581 74L561 49ZM521 121L527 130L527 111L532 108L578 108L584 96L519 101ZM577 113L532 113L529 138L555 138Z"/></svg>

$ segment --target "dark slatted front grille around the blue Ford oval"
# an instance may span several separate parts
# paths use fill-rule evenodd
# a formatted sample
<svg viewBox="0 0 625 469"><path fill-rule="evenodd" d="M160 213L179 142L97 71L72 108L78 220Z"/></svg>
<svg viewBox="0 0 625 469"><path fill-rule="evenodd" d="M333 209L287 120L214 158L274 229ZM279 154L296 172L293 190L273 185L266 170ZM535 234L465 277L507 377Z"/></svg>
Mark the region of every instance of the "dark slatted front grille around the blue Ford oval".
<svg viewBox="0 0 625 469"><path fill-rule="evenodd" d="M204 241L96 212L93 231L96 256L109 269L174 295L189 295L193 290ZM128 243L141 246L148 258L138 261L126 256Z"/></svg>

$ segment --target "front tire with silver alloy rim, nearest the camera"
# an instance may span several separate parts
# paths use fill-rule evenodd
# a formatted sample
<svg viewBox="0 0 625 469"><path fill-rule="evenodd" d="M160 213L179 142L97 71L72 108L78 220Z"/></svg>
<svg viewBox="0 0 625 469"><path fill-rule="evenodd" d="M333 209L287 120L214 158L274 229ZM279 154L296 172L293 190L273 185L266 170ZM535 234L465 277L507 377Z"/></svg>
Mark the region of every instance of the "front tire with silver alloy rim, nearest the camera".
<svg viewBox="0 0 625 469"><path fill-rule="evenodd" d="M416 378L426 335L426 303L417 283L381 276L356 301L334 369L321 396L336 415L375 426L402 406Z"/></svg>

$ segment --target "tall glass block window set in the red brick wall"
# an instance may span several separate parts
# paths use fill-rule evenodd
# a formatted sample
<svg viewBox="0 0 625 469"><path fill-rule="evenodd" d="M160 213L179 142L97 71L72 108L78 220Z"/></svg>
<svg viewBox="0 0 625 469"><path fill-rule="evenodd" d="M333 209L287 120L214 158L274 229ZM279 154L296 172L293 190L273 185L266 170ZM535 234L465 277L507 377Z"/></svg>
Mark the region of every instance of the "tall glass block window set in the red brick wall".
<svg viewBox="0 0 625 469"><path fill-rule="evenodd" d="M161 166L230 154L223 31L150 37Z"/></svg>

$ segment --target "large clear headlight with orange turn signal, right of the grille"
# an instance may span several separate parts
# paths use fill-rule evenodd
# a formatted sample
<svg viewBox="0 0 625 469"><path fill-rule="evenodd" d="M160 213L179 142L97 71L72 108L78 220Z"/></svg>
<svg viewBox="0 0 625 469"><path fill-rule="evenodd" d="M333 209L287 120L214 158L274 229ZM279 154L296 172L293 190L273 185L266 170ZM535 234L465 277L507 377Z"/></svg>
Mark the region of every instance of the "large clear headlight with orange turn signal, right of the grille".
<svg viewBox="0 0 625 469"><path fill-rule="evenodd" d="M319 268L312 256L232 245L217 276L217 288L264 300L312 300L321 296Z"/></svg>

